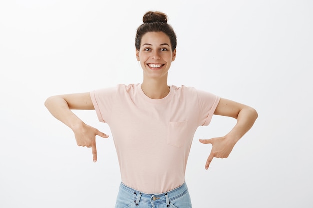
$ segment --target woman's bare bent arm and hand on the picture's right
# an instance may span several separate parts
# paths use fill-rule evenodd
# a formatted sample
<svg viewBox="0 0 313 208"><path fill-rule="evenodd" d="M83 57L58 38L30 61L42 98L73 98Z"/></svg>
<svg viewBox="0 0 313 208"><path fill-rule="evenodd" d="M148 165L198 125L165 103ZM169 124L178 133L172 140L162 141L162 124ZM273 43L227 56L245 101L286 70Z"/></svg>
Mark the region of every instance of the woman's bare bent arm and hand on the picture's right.
<svg viewBox="0 0 313 208"><path fill-rule="evenodd" d="M233 117L237 119L237 123L233 129L223 137L199 140L203 144L212 144L212 150L207 158L205 169L208 169L214 157L227 158L234 145L249 131L258 116L255 109L224 98L220 98L214 114Z"/></svg>

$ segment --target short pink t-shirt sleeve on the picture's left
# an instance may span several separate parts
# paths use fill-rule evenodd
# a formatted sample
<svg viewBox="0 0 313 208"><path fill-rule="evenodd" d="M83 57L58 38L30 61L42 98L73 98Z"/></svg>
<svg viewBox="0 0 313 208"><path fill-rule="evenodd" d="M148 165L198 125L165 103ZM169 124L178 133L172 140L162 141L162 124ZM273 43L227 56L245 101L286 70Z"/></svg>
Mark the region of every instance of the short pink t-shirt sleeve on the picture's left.
<svg viewBox="0 0 313 208"><path fill-rule="evenodd" d="M91 100L100 122L110 118L116 97L117 87L97 89L90 92Z"/></svg>

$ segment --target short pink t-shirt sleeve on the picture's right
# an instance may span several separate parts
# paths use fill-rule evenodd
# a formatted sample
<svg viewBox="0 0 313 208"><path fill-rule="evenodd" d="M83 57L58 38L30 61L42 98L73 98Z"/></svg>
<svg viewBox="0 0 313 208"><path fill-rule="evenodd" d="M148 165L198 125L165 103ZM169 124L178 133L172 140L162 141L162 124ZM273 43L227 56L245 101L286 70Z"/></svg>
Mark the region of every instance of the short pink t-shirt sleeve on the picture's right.
<svg viewBox="0 0 313 208"><path fill-rule="evenodd" d="M209 92L197 90L199 104L199 125L207 126L212 119L220 98Z"/></svg>

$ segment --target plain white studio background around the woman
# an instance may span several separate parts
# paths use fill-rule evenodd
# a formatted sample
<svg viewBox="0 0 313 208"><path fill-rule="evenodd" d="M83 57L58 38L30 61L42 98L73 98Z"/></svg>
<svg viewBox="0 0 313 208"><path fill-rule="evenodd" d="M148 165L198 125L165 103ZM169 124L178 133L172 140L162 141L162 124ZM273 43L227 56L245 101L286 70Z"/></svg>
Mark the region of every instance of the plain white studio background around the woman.
<svg viewBox="0 0 313 208"><path fill-rule="evenodd" d="M178 38L169 84L254 107L259 117L229 158L205 161L234 119L195 134L186 171L194 208L312 208L313 1L1 0L0 207L113 208L113 140L76 146L47 97L140 83L134 37L160 10ZM76 111L110 134L94 111ZM153 180L153 179L152 179Z"/></svg>

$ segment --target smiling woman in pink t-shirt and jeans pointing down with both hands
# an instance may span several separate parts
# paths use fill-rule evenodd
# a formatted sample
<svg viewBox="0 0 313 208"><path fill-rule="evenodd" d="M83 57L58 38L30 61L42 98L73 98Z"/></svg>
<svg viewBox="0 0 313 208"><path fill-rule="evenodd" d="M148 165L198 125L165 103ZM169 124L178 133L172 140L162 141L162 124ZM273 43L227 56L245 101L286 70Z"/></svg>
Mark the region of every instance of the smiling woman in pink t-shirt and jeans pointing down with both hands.
<svg viewBox="0 0 313 208"><path fill-rule="evenodd" d="M175 32L161 12L147 12L143 22L135 39L143 69L141 84L52 96L45 105L73 130L79 146L92 148L94 162L95 136L108 136L85 124L71 109L95 110L99 121L109 125L122 179L115 208L191 208L184 177L197 127L208 125L213 114L237 119L227 135L200 140L212 144L208 169L214 157L228 157L252 127L257 112L192 87L168 85L168 70L176 57Z"/></svg>

